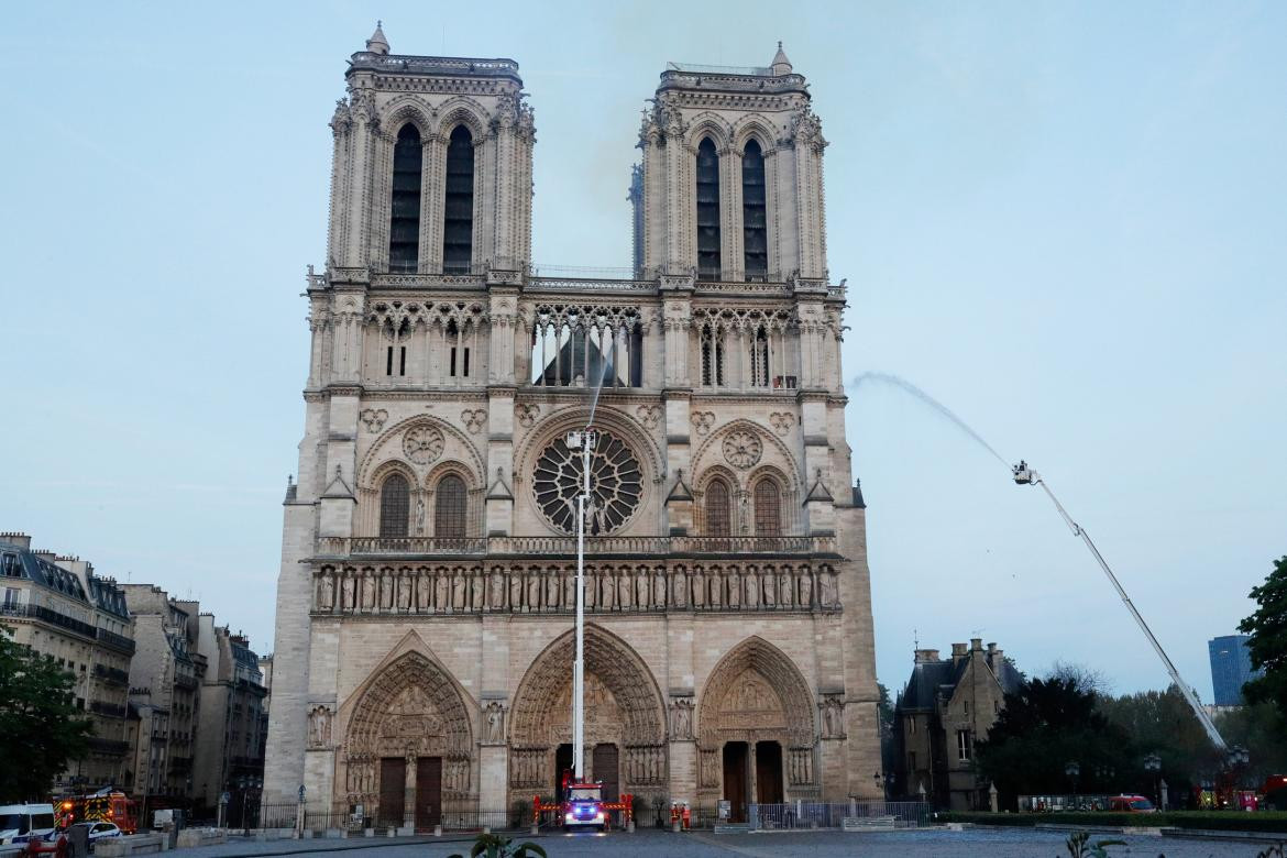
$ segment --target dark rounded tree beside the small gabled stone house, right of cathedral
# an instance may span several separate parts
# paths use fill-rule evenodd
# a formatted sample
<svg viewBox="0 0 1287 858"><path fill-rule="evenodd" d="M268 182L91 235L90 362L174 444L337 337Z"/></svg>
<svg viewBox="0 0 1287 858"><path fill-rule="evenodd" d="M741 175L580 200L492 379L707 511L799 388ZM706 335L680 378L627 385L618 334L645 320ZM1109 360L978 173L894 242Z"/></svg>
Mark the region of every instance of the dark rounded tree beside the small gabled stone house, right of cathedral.
<svg viewBox="0 0 1287 858"><path fill-rule="evenodd" d="M1077 679L1050 677L1023 683L974 746L985 781L996 783L1004 807L1019 795L1071 792L1064 773L1077 763L1079 792L1112 789L1116 771L1135 756L1130 737L1097 709L1099 697Z"/></svg>

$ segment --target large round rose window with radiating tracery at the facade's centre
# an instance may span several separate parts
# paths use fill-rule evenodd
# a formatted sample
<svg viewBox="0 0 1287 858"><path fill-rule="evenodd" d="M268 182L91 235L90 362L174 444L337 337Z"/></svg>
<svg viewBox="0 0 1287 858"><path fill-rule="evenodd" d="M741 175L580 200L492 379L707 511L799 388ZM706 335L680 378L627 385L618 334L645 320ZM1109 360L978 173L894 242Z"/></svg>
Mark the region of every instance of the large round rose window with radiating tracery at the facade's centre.
<svg viewBox="0 0 1287 858"><path fill-rule="evenodd" d="M532 491L551 525L565 534L577 533L577 495L582 488L580 449L569 449L560 437L537 459ZM610 534L634 515L644 494L644 475L631 449L616 436L598 431L589 453L589 509L586 533Z"/></svg>

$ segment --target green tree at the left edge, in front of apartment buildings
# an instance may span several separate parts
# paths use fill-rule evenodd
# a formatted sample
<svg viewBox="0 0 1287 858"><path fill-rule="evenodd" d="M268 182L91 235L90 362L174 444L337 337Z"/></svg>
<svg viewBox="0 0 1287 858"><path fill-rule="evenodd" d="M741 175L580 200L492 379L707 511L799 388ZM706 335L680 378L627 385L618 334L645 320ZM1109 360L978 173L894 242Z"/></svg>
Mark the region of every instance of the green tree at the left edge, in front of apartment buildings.
<svg viewBox="0 0 1287 858"><path fill-rule="evenodd" d="M84 756L90 722L76 707L75 675L14 643L0 626L0 800L48 800L54 776Z"/></svg>

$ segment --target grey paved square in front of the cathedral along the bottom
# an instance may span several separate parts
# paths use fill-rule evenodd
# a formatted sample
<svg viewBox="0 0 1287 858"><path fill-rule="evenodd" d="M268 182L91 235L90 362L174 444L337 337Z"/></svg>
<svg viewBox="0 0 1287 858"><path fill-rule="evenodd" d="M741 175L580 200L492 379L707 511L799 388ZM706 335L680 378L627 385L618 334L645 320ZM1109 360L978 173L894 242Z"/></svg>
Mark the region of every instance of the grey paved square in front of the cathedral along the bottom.
<svg viewBox="0 0 1287 858"><path fill-rule="evenodd" d="M1067 835L1039 831L973 830L862 832L772 832L746 835L689 834L672 835L660 831L637 831L633 835L543 835L537 837L550 858L574 855L610 855L611 858L1066 858ZM1115 846L1111 855L1133 858L1255 858L1264 845L1228 841L1198 841L1157 836L1095 835L1126 840L1127 845ZM526 837L519 837L525 840ZM444 839L445 840L445 839ZM184 858L233 858L242 855L326 855L327 858L444 858L453 853L468 854L470 841L434 839L400 840L278 840L255 843L234 840L223 846L184 849Z"/></svg>

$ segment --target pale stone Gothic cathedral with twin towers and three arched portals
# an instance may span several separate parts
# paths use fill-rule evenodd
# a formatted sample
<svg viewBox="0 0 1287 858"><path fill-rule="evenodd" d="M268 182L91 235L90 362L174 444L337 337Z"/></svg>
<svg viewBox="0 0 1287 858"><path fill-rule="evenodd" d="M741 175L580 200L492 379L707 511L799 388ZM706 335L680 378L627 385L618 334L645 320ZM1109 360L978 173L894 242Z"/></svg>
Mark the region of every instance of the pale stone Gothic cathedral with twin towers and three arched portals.
<svg viewBox="0 0 1287 858"><path fill-rule="evenodd" d="M345 78L265 803L302 785L429 827L555 794L582 479L565 436L600 378L588 776L734 819L878 798L846 293L804 77L781 46L767 67L667 64L616 279L532 265L517 63L395 54L377 28Z"/></svg>

